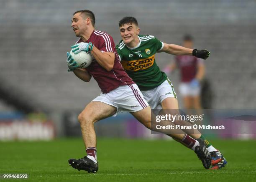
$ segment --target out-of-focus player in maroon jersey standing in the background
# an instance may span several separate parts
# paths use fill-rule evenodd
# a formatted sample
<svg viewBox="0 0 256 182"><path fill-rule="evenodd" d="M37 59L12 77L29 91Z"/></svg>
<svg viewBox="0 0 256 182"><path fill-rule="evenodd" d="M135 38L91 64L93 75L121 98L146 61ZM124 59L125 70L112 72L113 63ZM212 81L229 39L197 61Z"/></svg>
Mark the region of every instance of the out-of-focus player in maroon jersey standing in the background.
<svg viewBox="0 0 256 182"><path fill-rule="evenodd" d="M193 38L185 35L183 46L186 48L193 47ZM165 73L170 73L176 68L180 70L179 93L182 96L185 109L202 109L201 106L201 81L205 76L205 65L202 59L195 56L180 55L176 56L176 60L169 64L165 69Z"/></svg>

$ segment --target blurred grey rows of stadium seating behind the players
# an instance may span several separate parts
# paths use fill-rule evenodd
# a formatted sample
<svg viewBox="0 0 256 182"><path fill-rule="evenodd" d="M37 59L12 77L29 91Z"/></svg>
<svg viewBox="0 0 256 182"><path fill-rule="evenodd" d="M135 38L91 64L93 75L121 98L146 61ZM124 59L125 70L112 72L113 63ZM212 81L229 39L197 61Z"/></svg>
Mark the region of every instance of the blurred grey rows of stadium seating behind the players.
<svg viewBox="0 0 256 182"><path fill-rule="evenodd" d="M0 0L0 4L0 79L25 93L31 104L54 112L81 110L100 94L94 80L83 83L67 72L65 62L77 40L70 27L72 13L90 9L96 29L108 32L116 44L118 21L128 15L138 19L141 34L166 43L181 44L185 33L192 34L196 48L211 52L205 63L215 94L213 108L255 108L255 0ZM171 60L165 53L156 56L161 68ZM170 79L178 83L177 74ZM0 101L0 109L8 111L10 106Z"/></svg>

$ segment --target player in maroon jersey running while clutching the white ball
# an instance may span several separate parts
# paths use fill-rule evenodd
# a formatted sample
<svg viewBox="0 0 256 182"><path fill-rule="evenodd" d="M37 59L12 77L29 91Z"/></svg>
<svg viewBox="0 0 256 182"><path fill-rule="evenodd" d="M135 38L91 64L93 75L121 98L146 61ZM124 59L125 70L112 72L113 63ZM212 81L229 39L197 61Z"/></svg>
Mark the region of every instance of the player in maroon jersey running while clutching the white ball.
<svg viewBox="0 0 256 182"><path fill-rule="evenodd" d="M80 10L73 14L72 28L79 40L72 46L73 53L90 52L95 58L87 68L79 68L74 58L67 53L69 71L85 82L91 77L97 81L102 94L93 99L79 114L82 138L87 156L81 159L69 159L74 169L87 172L97 172L97 149L94 123L115 116L120 111L130 112L148 129L151 128L151 108L144 99L138 86L123 69L113 38L105 32L95 30L95 15L90 10ZM172 124L161 121L162 125ZM163 132L162 130L157 130ZM174 139L182 141L184 145L194 150L203 166L211 166L211 156L202 139L194 139L182 130L170 134Z"/></svg>

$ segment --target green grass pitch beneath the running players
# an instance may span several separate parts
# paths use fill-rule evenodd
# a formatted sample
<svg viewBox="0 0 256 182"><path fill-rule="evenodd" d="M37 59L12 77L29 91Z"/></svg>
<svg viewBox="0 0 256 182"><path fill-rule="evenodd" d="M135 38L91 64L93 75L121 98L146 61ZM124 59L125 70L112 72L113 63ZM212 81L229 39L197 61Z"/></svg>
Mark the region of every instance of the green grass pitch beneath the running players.
<svg viewBox="0 0 256 182"><path fill-rule="evenodd" d="M206 170L192 150L168 140L98 139L99 171L69 166L85 155L80 139L51 142L0 142L0 174L29 174L28 181L254 181L256 141L212 140L228 160L221 170ZM3 178L0 181L23 179ZM25 179L24 179L25 180Z"/></svg>

